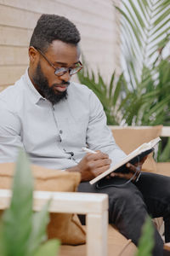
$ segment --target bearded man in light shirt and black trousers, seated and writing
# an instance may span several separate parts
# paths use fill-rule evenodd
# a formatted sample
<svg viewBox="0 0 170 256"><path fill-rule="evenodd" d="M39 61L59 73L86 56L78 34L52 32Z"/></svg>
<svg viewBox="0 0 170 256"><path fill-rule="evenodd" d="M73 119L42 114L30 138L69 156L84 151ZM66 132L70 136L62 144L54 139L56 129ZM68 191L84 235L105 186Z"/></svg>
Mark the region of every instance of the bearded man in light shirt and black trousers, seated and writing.
<svg viewBox="0 0 170 256"><path fill-rule="evenodd" d="M0 162L16 160L21 147L34 164L80 172L79 191L108 194L110 223L138 246L148 214L169 220L170 179L144 173L138 182L122 185L138 171L128 164L126 176L107 178L98 187L88 183L125 154L106 125L98 98L85 85L70 82L82 68L79 41L77 27L64 17L42 15L37 21L28 70L0 94ZM85 154L82 147L87 146L97 154ZM153 255L161 256L163 241L156 229L155 240Z"/></svg>

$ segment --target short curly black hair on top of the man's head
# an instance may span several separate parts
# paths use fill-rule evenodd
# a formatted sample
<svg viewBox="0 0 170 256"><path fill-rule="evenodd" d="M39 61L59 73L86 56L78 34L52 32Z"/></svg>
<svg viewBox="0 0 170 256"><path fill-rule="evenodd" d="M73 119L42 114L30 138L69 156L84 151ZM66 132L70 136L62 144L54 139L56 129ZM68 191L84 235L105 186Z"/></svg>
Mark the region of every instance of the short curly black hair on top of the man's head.
<svg viewBox="0 0 170 256"><path fill-rule="evenodd" d="M80 41L77 27L68 19L59 15L41 15L31 36L30 46L44 52L54 40L77 45Z"/></svg>

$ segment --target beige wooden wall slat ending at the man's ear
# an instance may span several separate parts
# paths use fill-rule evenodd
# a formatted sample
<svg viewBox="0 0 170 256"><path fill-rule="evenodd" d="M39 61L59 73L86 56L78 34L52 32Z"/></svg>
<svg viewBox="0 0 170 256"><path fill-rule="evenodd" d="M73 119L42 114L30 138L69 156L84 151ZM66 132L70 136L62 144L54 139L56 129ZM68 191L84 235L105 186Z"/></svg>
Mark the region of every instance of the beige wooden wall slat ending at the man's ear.
<svg viewBox="0 0 170 256"><path fill-rule="evenodd" d="M28 49L0 45L0 66L28 65Z"/></svg>

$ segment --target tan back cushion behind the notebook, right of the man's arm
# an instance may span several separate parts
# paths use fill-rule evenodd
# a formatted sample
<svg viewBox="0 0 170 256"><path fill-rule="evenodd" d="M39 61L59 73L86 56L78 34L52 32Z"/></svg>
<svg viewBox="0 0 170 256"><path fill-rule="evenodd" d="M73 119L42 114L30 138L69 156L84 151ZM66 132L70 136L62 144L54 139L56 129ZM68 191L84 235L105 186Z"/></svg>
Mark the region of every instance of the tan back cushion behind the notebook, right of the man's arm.
<svg viewBox="0 0 170 256"><path fill-rule="evenodd" d="M135 148L138 148L142 143L149 143L150 140L161 135L162 125L156 125L150 128L120 128L113 129L112 134L116 140L117 145L122 150L129 154ZM145 160L142 170L145 172L156 172L156 162L150 154Z"/></svg>

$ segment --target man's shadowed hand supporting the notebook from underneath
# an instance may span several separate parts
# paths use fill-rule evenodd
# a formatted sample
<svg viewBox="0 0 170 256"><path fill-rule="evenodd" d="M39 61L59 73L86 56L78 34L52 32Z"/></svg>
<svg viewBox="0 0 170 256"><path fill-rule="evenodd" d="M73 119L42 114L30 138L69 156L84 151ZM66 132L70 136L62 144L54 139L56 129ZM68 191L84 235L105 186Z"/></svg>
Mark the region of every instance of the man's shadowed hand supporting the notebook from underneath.
<svg viewBox="0 0 170 256"><path fill-rule="evenodd" d="M133 181L135 181L141 172L142 165L144 164L144 161L147 159L147 155L144 156L142 160L139 161L139 163L136 163L134 165L127 163L126 167L128 169L128 173L122 173L122 172L111 172L111 177L124 177L126 179L130 179L133 177L133 175L136 173L136 175L133 177Z"/></svg>

